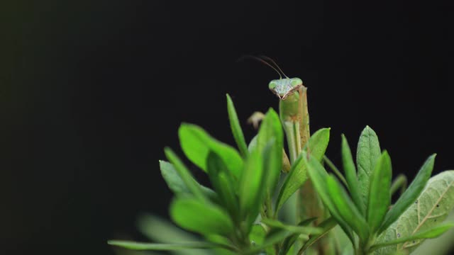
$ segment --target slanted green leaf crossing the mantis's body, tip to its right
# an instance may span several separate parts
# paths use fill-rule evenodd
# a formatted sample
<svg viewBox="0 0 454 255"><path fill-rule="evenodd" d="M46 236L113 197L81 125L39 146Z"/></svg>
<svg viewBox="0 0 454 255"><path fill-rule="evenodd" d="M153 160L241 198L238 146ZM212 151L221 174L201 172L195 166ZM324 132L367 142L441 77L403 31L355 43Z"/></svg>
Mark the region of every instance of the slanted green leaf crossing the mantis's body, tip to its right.
<svg viewBox="0 0 454 255"><path fill-rule="evenodd" d="M321 161L328 147L330 128L321 128L314 133L309 139L308 145L311 157ZM302 154L292 164L292 168L285 178L284 184L279 191L276 202L276 212L282 208L282 205L297 191L301 185L308 179L306 166L301 161Z"/></svg>

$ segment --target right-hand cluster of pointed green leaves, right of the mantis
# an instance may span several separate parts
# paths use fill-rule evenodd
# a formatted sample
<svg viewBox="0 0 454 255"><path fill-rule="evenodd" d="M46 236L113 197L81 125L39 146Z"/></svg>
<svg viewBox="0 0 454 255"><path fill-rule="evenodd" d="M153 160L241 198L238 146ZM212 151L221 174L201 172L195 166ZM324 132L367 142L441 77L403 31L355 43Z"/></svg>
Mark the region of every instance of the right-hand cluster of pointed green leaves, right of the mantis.
<svg viewBox="0 0 454 255"><path fill-rule="evenodd" d="M426 188L426 192L431 193L433 193L431 188L441 188L444 191L444 193L438 193L443 194L437 198L438 207L440 207L446 191L452 187L452 182L448 185L443 184L443 187L440 187L441 183L431 185L434 184L434 181L426 186L431 177L436 154L426 159L414 181L392 205L391 158L386 150L381 151L380 142L374 130L368 126L362 130L356 152L356 164L344 135L341 147L345 176L338 173L339 178L336 178L335 175L328 174L319 160L303 152L306 155L304 164L309 170L309 176L323 203L347 234L357 254L372 254L375 251L380 253L380 249L388 246L394 246L395 252L397 244L409 244L409 242L414 244L421 242L422 239L435 238L454 226L453 223L439 222L441 224L415 228L406 235L403 235L403 232L397 232L394 238L389 238L391 237L389 232L396 231L395 225L402 228L402 222L409 220L410 215L414 215L414 210L409 210L411 205L418 206L416 208L418 215L416 218L412 217L411 220L430 217L427 214L421 215L419 210L419 206L426 208L431 203L421 195L424 188ZM453 178L452 171L445 173ZM345 188L339 179L345 180ZM445 210L442 214L447 215L453 208L454 202L453 198L444 201ZM423 224L421 220L419 221L419 225ZM409 225L409 222L405 222L405 224ZM409 246L399 246L399 249L402 247L408 248Z"/></svg>

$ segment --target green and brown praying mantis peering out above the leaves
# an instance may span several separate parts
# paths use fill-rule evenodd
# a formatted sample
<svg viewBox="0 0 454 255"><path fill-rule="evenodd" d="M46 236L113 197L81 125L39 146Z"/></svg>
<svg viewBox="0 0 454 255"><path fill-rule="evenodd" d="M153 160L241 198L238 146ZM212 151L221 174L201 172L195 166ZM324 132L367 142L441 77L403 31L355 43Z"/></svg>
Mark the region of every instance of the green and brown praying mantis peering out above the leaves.
<svg viewBox="0 0 454 255"><path fill-rule="evenodd" d="M290 166L297 160L303 149L307 147L307 142L310 137L307 88L304 86L301 79L287 77L279 65L270 57L248 57L252 57L263 64L266 64L279 74L279 79L270 81L268 87L272 93L279 98L279 117L285 136L287 137L289 151L289 157L285 151L282 152L282 165L283 171L288 172ZM256 113L255 116L251 116L250 122L254 122L254 118L255 121L257 121L258 115L260 114ZM310 153L310 148L307 147L306 151ZM296 200L297 221L316 217L316 225L327 217L327 212L323 208L323 204L316 194L310 180L306 181L304 185L299 188ZM319 242L319 247L316 247L316 249L322 251L321 254L329 254L328 251L323 251L331 249L327 244L328 242L323 242L323 240L321 240L321 242Z"/></svg>

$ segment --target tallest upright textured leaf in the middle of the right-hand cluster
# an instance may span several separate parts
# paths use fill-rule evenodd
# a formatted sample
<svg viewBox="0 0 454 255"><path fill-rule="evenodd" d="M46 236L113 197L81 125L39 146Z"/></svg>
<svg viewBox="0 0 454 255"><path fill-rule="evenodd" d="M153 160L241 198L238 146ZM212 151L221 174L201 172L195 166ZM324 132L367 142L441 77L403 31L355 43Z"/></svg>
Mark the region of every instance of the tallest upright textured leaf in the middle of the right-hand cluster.
<svg viewBox="0 0 454 255"><path fill-rule="evenodd" d="M382 154L380 150L380 143L378 142L377 134L369 126L366 126L361 132L360 140L358 142L358 149L356 151L356 164L358 165L358 183L362 196L362 212L367 209L369 202L369 181L370 175L374 170L375 162Z"/></svg>

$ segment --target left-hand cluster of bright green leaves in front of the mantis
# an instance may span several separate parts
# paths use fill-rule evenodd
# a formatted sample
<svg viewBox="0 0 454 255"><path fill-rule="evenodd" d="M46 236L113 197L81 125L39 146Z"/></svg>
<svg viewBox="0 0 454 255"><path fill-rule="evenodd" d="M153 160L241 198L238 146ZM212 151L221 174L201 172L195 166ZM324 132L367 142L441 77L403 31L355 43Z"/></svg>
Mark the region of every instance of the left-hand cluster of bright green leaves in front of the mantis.
<svg viewBox="0 0 454 255"><path fill-rule="evenodd" d="M184 154L209 176L212 186L202 186L175 152L165 148L168 161L160 161L163 178L175 193L170 217L179 227L196 232L204 242L147 244L111 240L109 244L138 250L223 249L224 253L257 254L280 251L287 254L297 239L306 246L331 229L309 226L315 219L287 224L277 219L282 205L308 179L302 157L292 165L282 185L284 133L279 115L270 108L258 134L247 145L236 109L227 95L228 118L238 149L211 137L197 125L183 123L179 142ZM322 159L329 129L316 132L309 144L314 157ZM311 238L312 237L312 238Z"/></svg>

